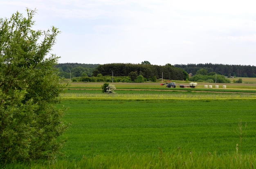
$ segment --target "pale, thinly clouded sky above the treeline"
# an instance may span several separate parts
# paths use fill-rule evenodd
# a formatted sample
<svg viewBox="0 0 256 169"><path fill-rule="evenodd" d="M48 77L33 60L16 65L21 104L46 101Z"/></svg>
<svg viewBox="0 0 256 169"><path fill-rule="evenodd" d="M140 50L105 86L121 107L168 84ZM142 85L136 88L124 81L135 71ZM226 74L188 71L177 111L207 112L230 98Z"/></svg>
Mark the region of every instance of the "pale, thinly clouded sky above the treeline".
<svg viewBox="0 0 256 169"><path fill-rule="evenodd" d="M58 63L256 66L255 0L0 0L0 18L36 9L57 27Z"/></svg>

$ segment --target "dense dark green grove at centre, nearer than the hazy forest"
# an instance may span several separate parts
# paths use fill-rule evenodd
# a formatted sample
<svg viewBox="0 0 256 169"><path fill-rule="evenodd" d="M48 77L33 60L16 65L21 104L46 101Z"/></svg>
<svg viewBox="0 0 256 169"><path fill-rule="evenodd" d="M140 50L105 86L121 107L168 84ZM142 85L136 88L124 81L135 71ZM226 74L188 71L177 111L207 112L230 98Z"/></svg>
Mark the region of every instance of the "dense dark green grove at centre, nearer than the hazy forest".
<svg viewBox="0 0 256 169"><path fill-rule="evenodd" d="M146 63L146 64L145 64ZM175 79L186 80L189 74L181 68L175 68L171 64L165 66L151 65L149 62L142 62L141 64L103 64L99 65L92 73L92 76L97 77L101 74L103 76L121 76L130 77L134 81L139 75L146 78L147 81L154 79Z"/></svg>

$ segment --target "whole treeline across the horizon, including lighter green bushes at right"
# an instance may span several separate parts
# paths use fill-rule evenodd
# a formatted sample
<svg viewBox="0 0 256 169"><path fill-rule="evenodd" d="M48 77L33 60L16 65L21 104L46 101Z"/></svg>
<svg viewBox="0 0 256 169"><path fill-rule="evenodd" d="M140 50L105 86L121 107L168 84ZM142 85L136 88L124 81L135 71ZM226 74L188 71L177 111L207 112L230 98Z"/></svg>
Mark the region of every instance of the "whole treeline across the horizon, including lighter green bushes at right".
<svg viewBox="0 0 256 169"><path fill-rule="evenodd" d="M229 83L227 77L256 77L256 66L224 65L224 64L166 64L151 65L148 61L141 64L78 64L65 63L55 66L59 76L74 81L112 81L143 82L156 79L189 80L218 83ZM217 74L217 78L215 76Z"/></svg>

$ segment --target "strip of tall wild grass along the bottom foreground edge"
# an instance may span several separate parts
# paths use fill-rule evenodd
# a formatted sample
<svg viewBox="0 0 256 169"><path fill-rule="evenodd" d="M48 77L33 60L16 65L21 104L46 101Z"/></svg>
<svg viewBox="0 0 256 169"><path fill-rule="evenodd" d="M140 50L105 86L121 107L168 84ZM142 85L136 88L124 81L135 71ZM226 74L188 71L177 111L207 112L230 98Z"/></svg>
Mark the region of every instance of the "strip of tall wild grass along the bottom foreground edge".
<svg viewBox="0 0 256 169"><path fill-rule="evenodd" d="M254 169L255 154L217 155L181 151L158 154L119 154L118 156L83 156L80 160L57 160L16 164L4 169Z"/></svg>

